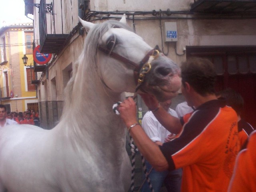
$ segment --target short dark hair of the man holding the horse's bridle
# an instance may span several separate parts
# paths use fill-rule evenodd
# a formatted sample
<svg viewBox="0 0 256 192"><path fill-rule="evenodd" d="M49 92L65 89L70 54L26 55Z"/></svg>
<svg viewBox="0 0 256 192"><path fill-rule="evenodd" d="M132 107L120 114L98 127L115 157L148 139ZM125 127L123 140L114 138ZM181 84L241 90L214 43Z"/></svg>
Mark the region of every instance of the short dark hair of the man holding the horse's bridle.
<svg viewBox="0 0 256 192"><path fill-rule="evenodd" d="M188 82L202 96L215 93L216 72L214 65L208 59L193 57L183 62L181 78L184 87L185 82Z"/></svg>

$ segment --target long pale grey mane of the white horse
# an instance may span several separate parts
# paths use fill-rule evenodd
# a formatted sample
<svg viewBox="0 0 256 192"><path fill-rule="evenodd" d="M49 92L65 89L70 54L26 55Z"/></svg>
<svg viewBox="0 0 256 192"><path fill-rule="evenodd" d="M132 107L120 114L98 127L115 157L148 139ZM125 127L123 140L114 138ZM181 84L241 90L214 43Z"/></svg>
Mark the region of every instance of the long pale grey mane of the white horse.
<svg viewBox="0 0 256 192"><path fill-rule="evenodd" d="M69 111L69 109L71 108L72 100L74 99L72 93L76 76L78 75L78 67L80 65L83 65L83 70L88 70L91 73L98 74L96 64L99 39L101 39L102 35L104 35L110 28L124 28L126 30L132 31L132 29L128 25L117 20L107 20L106 22L103 22L101 24L95 24L94 27L90 29L84 40L84 48L82 50L82 53L80 54L78 60L76 62L73 62L72 64L72 76L68 81L66 88L64 89L65 99L63 111ZM98 76L100 76L100 74L98 74Z"/></svg>

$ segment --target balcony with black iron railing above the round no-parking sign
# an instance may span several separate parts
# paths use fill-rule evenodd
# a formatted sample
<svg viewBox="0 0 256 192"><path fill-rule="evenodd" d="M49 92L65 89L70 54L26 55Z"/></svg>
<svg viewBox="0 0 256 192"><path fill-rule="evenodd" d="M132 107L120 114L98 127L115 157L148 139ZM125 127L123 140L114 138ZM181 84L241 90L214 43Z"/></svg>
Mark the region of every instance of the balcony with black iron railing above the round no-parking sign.
<svg viewBox="0 0 256 192"><path fill-rule="evenodd" d="M68 38L68 34L63 32L62 18L62 6L54 8L54 4L46 4L45 0L40 1L39 33L41 53L58 54L62 50Z"/></svg>

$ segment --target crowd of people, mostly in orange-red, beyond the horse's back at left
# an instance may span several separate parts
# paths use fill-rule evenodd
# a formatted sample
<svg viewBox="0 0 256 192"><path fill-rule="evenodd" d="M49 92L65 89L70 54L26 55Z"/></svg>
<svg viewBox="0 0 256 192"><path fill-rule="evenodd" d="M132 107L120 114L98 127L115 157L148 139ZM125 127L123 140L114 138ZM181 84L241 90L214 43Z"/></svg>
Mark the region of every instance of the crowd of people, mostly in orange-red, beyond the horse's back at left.
<svg viewBox="0 0 256 192"><path fill-rule="evenodd" d="M39 114L34 109L27 109L24 112L7 112L6 106L0 104L0 127L11 124L40 126Z"/></svg>

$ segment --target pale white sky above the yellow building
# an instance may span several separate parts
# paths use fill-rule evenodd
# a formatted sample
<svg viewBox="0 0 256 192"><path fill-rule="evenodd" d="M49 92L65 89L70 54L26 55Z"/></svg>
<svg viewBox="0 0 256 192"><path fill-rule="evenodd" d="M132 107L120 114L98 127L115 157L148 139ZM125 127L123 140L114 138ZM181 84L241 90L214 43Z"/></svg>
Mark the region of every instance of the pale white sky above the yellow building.
<svg viewBox="0 0 256 192"><path fill-rule="evenodd" d="M0 27L26 22L33 21L25 16L24 0L0 0Z"/></svg>

